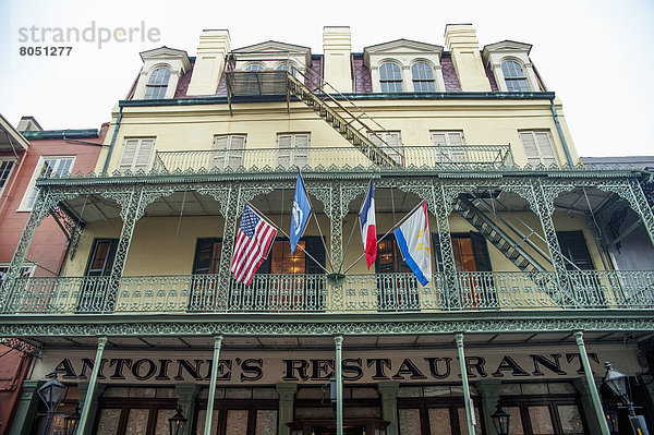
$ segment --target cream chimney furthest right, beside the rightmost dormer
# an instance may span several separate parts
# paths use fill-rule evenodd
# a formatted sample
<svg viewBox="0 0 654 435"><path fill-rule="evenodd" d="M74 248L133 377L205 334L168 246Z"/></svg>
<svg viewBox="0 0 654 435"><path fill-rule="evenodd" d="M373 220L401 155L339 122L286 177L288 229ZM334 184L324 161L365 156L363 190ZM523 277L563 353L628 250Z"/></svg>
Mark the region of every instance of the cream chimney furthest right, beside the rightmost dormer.
<svg viewBox="0 0 654 435"><path fill-rule="evenodd" d="M472 24L448 24L445 27L445 46L452 56L452 63L461 90L491 90L491 83L482 62L480 43Z"/></svg>

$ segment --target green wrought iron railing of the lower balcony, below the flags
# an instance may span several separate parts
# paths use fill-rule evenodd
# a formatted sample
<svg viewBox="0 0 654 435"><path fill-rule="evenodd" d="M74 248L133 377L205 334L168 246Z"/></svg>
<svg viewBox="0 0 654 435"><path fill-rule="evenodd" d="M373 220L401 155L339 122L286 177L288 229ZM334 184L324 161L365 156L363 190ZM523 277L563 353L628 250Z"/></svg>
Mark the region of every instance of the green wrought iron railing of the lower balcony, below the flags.
<svg viewBox="0 0 654 435"><path fill-rule="evenodd" d="M217 275L20 278L3 299L3 314L125 313L375 313L475 310L652 310L654 271L570 271L570 286L553 273L471 271L445 291L435 274L422 287L411 274L350 275L332 287L325 275L255 275L251 286ZM562 297L562 288L573 294ZM110 290L113 289L113 290ZM566 305L557 301L574 301Z"/></svg>

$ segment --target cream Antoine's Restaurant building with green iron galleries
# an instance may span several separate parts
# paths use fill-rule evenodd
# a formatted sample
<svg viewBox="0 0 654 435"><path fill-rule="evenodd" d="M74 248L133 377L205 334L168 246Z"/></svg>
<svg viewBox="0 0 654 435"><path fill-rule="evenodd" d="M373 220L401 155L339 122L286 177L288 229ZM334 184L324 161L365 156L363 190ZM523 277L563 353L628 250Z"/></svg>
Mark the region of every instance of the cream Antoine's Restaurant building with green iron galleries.
<svg viewBox="0 0 654 435"><path fill-rule="evenodd" d="M497 404L512 434L600 434L590 368L609 360L652 424L654 271L618 269L594 223L621 198L652 241L647 174L581 165L531 45L480 50L462 24L445 47L356 53L325 27L323 50L205 31L196 58L141 53L95 172L36 183L0 293L0 334L43 347L29 386L56 370L80 434L167 434L178 404L187 434L332 434L337 415L348 434L495 434ZM316 214L302 250L280 231L238 283L244 204L288 232L298 167ZM358 262L371 176L380 238L426 201L426 286L392 234ZM76 254L21 277L53 207L84 226ZM21 403L12 433L41 427L33 389Z"/></svg>

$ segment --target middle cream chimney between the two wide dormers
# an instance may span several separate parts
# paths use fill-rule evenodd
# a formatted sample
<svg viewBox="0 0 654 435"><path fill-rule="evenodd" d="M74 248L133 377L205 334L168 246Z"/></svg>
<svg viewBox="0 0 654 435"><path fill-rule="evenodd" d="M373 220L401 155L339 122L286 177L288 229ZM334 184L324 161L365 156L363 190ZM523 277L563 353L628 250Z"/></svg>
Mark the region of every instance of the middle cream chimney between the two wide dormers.
<svg viewBox="0 0 654 435"><path fill-rule="evenodd" d="M325 81L338 92L352 92L352 35L350 27L323 27Z"/></svg>

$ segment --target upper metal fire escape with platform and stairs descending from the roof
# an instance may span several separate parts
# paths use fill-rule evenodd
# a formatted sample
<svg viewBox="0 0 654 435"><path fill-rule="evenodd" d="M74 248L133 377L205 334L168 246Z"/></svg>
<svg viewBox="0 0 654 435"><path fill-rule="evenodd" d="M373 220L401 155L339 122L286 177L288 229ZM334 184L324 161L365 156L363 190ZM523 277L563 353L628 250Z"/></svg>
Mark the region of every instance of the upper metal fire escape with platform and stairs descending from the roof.
<svg viewBox="0 0 654 435"><path fill-rule="evenodd" d="M310 89L293 73L283 70L227 71L226 83L230 113L234 97L286 95L287 104L289 104L290 97L293 95L363 153L374 165L380 168L402 166L402 146L389 144L386 137L389 137L390 133L378 122L327 82L317 78L319 83L316 83L316 80L300 71L294 70L294 73L312 83L314 89ZM330 92L327 92L327 88ZM374 141L371 141L367 134L372 134Z"/></svg>

